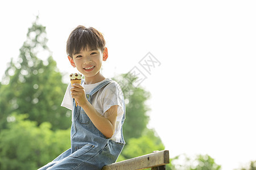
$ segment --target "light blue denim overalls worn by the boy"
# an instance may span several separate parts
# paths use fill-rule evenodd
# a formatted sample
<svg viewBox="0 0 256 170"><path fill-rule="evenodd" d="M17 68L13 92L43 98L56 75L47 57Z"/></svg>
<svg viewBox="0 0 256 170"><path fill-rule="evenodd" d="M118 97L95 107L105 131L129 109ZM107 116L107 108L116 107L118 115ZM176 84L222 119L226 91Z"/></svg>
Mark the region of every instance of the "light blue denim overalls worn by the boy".
<svg viewBox="0 0 256 170"><path fill-rule="evenodd" d="M91 103L93 94L113 80L106 80L98 84L86 94ZM82 83L84 80L82 80ZM122 125L125 120L125 103L123 100ZM125 141L121 128L121 141L115 142L106 138L92 123L84 109L75 104L73 99L73 122L71 126L71 148L63 152L43 169L101 169L104 165L114 163L122 151Z"/></svg>

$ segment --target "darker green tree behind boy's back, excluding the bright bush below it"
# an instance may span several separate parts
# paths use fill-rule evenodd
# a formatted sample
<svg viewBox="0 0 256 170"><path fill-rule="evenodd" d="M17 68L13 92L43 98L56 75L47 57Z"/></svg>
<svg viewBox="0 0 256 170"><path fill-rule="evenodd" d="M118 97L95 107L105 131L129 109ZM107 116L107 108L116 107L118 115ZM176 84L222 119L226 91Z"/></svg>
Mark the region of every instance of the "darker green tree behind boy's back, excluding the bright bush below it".
<svg viewBox="0 0 256 170"><path fill-rule="evenodd" d="M145 103L150 98L150 93L141 87L135 87L133 84L137 78L131 74L122 74L113 79L120 84L125 97L126 120L123 124L123 135L129 142L130 138L141 137L143 131L147 129L149 120L147 111L150 111L150 108Z"/></svg>

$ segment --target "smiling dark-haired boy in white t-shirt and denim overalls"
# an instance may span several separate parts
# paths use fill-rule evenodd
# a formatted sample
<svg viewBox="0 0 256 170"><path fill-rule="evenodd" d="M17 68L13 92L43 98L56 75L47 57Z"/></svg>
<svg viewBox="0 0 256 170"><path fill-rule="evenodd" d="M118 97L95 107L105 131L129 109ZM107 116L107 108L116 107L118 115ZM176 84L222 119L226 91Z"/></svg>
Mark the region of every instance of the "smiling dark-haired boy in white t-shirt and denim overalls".
<svg viewBox="0 0 256 170"><path fill-rule="evenodd" d="M69 84L61 103L72 110L71 148L40 170L101 169L114 163L125 145L122 90L100 71L108 49L96 29L75 28L67 41L67 54L71 65L85 77L81 84Z"/></svg>

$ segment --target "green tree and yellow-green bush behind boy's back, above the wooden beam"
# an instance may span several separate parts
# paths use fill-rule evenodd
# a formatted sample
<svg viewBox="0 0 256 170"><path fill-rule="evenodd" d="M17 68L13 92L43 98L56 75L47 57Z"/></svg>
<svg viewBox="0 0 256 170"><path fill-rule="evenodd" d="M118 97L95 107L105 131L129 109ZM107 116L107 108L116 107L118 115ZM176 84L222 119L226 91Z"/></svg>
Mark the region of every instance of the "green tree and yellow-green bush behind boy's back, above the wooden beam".
<svg viewBox="0 0 256 170"><path fill-rule="evenodd" d="M150 99L150 93L141 86L134 86L138 78L130 73L115 76L113 79L120 84L126 101L126 120L123 124L126 145L117 161L164 150L164 145L156 132L147 128L147 112L150 108L146 101Z"/></svg>

